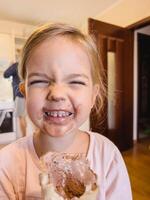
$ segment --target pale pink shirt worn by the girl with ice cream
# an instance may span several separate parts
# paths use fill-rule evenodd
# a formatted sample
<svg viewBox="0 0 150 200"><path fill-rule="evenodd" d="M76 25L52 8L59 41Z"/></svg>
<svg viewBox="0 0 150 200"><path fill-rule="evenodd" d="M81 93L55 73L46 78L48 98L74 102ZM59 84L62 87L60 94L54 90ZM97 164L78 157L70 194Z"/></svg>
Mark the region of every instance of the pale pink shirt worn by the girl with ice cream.
<svg viewBox="0 0 150 200"><path fill-rule="evenodd" d="M132 200L131 187L122 156L104 136L89 132L87 158L98 175L97 200ZM33 146L33 136L7 145L0 151L0 199L38 200L40 160Z"/></svg>

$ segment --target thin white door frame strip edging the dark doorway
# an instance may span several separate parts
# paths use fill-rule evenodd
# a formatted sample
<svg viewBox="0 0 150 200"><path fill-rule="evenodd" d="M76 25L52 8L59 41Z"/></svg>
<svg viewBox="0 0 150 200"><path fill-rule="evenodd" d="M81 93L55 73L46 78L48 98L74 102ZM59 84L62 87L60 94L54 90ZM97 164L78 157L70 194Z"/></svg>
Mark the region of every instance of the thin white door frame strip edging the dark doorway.
<svg viewBox="0 0 150 200"><path fill-rule="evenodd" d="M138 114L138 33L144 33L150 35L150 25L141 29L137 29L134 32L134 97L133 97L133 140L137 140L137 114Z"/></svg>

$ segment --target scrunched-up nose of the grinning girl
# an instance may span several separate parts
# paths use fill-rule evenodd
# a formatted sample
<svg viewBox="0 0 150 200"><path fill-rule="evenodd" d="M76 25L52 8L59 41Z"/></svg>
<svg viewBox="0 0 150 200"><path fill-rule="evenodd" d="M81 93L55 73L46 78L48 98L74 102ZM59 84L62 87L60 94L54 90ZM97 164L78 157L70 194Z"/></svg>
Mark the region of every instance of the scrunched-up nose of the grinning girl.
<svg viewBox="0 0 150 200"><path fill-rule="evenodd" d="M47 99L49 101L65 101L65 89L60 85L53 85L49 87Z"/></svg>

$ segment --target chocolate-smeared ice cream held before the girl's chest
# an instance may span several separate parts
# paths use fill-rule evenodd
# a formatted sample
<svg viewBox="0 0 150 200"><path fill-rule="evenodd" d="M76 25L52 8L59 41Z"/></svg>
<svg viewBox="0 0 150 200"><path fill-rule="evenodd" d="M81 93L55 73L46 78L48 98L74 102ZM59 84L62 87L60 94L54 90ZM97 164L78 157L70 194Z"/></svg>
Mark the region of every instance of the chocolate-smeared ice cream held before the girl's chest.
<svg viewBox="0 0 150 200"><path fill-rule="evenodd" d="M47 154L40 184L44 200L96 200L97 176L83 155Z"/></svg>

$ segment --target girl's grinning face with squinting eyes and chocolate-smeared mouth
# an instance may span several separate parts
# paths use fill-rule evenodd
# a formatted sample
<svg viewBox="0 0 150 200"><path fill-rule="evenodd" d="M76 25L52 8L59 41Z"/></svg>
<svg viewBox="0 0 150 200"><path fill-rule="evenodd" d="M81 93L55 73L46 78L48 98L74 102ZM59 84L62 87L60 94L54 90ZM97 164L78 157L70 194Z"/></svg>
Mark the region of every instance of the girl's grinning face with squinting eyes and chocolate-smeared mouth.
<svg viewBox="0 0 150 200"><path fill-rule="evenodd" d="M33 123L54 137L75 133L89 117L98 90L83 48L65 37L47 39L31 53L26 68Z"/></svg>

